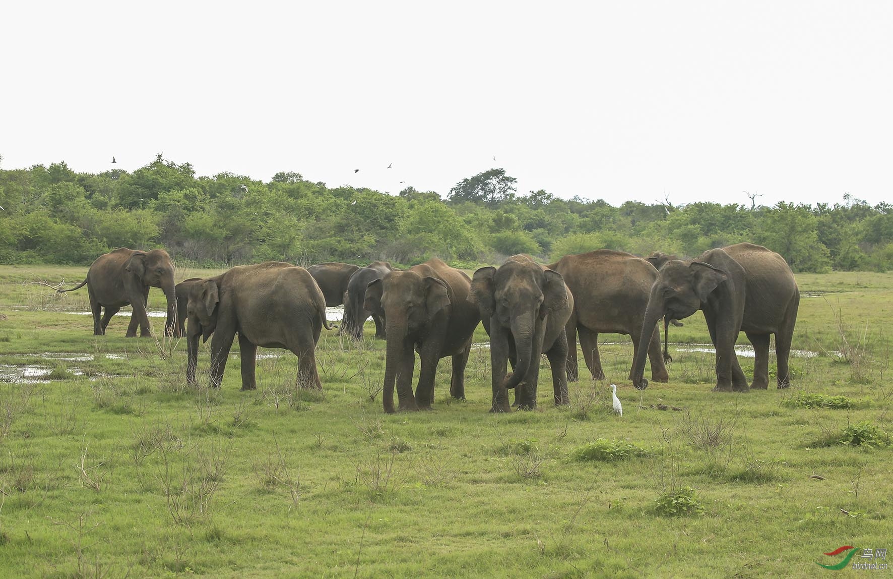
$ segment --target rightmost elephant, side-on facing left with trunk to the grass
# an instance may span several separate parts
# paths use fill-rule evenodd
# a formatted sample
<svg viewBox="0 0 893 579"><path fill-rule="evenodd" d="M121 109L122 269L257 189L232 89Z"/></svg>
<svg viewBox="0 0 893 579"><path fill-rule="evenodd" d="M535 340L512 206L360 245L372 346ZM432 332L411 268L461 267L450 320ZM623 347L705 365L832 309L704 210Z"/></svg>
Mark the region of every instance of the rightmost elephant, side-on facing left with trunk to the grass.
<svg viewBox="0 0 893 579"><path fill-rule="evenodd" d="M668 315L685 318L704 312L710 340L716 348L714 390L746 392L747 378L735 355L739 331L754 345L754 382L750 388L769 385L769 339L775 334L779 388L790 384L788 357L800 292L784 258L763 246L738 243L710 249L693 261L665 264L651 288L642 331L650 331ZM645 357L638 350L632 383L647 388L642 377Z"/></svg>

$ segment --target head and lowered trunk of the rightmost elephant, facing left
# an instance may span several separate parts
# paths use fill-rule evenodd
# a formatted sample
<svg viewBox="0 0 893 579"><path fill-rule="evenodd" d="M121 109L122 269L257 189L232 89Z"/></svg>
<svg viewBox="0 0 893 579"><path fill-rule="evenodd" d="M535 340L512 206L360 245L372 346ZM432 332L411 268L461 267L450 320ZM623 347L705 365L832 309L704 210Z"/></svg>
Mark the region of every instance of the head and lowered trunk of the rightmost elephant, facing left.
<svg viewBox="0 0 893 579"><path fill-rule="evenodd" d="M702 261L681 261L673 259L661 268L651 293L642 331L636 360L632 367L632 383L639 390L648 386L642 377L647 357L647 340L655 329L655 323L665 319L682 319L694 314L705 305L710 294L728 279L728 274L714 265Z"/></svg>

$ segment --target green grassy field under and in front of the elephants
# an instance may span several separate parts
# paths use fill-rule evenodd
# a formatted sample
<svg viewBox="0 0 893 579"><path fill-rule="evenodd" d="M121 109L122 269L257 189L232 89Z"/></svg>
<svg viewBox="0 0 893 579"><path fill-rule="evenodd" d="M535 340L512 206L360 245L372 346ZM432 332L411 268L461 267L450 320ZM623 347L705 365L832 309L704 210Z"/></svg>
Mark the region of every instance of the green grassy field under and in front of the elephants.
<svg viewBox="0 0 893 579"><path fill-rule="evenodd" d="M0 266L2 577L813 577L841 545L893 547L893 274L797 276L814 354L789 390L711 392L713 355L680 347L640 392L631 345L606 343L608 380L572 382L570 407L544 359L538 409L490 415L477 348L467 400L445 360L433 411L385 415L383 341L324 332L321 394L263 349L240 391L238 340L220 390L188 388L185 341L125 339L129 310L95 338L66 313L86 289L33 283L86 269ZM671 341L709 342L684 323Z"/></svg>

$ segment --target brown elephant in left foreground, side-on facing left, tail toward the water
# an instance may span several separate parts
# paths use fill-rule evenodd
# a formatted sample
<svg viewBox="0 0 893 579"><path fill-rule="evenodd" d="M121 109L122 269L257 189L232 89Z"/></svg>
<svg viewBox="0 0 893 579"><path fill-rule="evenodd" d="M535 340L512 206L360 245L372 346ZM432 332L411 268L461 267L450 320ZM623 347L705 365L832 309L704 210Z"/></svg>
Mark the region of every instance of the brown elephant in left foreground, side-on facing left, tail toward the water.
<svg viewBox="0 0 893 579"><path fill-rule="evenodd" d="M196 382L198 339L211 340L211 385L219 387L238 332L242 390L255 390L257 347L285 348L298 358L297 383L321 389L314 350L326 322L320 287L303 267L283 262L239 265L191 282L188 291L187 382Z"/></svg>

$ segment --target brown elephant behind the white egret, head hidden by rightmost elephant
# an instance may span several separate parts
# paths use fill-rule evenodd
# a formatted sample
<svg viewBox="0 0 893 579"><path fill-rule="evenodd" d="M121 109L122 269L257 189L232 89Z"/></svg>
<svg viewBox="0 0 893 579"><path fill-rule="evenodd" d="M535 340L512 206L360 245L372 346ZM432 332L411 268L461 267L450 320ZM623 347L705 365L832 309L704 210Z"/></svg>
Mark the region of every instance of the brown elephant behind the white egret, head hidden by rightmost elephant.
<svg viewBox="0 0 893 579"><path fill-rule="evenodd" d="M640 339L642 320L648 304L648 292L657 279L657 270L641 257L612 249L597 249L577 256L563 256L547 265L561 273L574 300L573 311L567 322L567 377L576 381L577 332L580 348L592 377L605 380L598 356L599 332L629 334L635 355L647 352L651 360L651 377L655 382L667 382L669 376L661 356L660 335L648 331L646 340ZM646 345L639 347L639 342ZM630 365L630 378L632 366Z"/></svg>

